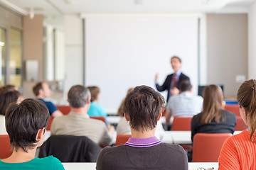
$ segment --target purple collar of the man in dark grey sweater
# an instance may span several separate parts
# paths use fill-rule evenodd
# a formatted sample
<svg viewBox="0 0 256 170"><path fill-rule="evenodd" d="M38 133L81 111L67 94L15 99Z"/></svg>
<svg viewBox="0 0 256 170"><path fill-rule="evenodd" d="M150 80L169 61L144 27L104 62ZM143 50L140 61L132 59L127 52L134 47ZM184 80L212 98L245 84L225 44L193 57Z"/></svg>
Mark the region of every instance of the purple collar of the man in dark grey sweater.
<svg viewBox="0 0 256 170"><path fill-rule="evenodd" d="M156 137L149 138L134 138L130 137L129 140L124 144L130 147L153 147L161 143Z"/></svg>

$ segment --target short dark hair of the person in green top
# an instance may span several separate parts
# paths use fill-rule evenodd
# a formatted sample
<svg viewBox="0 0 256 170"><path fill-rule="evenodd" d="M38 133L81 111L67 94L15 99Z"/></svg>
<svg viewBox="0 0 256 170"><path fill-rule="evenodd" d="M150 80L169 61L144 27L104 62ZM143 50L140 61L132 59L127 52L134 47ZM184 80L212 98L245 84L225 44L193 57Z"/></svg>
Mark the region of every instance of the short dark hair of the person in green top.
<svg viewBox="0 0 256 170"><path fill-rule="evenodd" d="M45 103L36 98L27 98L21 103L11 103L7 108L5 120L6 131L11 145L21 147L27 152L27 147L33 149L38 130L46 128L49 122L49 112Z"/></svg>

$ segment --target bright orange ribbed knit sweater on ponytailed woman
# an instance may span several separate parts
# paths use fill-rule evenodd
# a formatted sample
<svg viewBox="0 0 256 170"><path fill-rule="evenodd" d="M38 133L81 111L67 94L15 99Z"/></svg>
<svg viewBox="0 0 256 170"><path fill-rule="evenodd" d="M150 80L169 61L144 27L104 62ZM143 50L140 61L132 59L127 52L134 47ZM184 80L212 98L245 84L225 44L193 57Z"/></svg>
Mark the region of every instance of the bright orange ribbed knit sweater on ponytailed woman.
<svg viewBox="0 0 256 170"><path fill-rule="evenodd" d="M252 139L256 141L255 134ZM249 131L245 130L225 141L220 152L219 169L256 170L256 143L250 140Z"/></svg>

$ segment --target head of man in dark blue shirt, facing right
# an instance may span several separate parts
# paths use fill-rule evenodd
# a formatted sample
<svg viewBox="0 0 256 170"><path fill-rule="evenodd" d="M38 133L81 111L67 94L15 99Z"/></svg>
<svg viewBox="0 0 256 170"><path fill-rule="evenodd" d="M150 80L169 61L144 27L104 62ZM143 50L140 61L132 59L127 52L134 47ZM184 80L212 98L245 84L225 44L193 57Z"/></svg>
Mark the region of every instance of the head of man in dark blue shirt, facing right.
<svg viewBox="0 0 256 170"><path fill-rule="evenodd" d="M46 82L41 81L33 86L33 94L35 94L37 97L47 98L50 97L51 90Z"/></svg>

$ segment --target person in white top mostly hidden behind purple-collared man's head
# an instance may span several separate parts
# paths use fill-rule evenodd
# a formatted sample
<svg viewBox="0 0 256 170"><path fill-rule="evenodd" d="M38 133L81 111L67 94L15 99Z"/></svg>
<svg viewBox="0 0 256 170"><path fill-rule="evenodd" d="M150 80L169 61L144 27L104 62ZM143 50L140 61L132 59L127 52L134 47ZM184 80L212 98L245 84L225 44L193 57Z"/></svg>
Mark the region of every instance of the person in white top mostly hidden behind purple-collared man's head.
<svg viewBox="0 0 256 170"><path fill-rule="evenodd" d="M129 89L127 91L127 95L132 90L133 88ZM117 111L117 115L121 116L119 123L117 124L117 135L131 135L131 129L129 128L129 121L127 121L124 118L124 112L123 112L124 99ZM164 137L164 128L163 128L163 125L161 124L161 120L157 121L155 136L159 140L161 140Z"/></svg>

